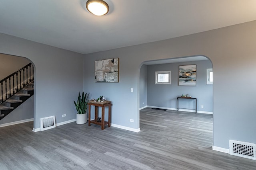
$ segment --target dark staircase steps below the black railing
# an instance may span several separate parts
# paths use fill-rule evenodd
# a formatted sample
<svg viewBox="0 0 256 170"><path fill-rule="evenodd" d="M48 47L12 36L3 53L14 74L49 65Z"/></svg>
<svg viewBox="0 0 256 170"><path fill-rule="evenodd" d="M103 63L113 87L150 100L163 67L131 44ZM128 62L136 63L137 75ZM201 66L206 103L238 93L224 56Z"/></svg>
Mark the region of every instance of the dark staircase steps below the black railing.
<svg viewBox="0 0 256 170"><path fill-rule="evenodd" d="M0 119L8 115L34 94L34 83L30 83L0 105Z"/></svg>

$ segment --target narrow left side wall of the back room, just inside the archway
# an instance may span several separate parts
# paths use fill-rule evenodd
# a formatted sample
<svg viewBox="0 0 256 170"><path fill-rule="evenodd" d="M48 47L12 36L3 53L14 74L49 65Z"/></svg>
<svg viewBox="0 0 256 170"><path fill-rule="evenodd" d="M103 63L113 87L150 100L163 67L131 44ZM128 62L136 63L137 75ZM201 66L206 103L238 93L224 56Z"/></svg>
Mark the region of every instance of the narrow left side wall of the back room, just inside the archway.
<svg viewBox="0 0 256 170"><path fill-rule="evenodd" d="M140 108L147 106L147 66L140 68Z"/></svg>

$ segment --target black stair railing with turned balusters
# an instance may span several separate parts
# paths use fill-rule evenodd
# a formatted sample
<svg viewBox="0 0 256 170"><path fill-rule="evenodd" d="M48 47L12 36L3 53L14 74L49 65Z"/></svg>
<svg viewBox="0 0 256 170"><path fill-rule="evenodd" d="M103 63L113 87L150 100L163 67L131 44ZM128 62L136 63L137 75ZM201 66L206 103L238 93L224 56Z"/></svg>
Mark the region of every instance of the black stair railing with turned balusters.
<svg viewBox="0 0 256 170"><path fill-rule="evenodd" d="M31 73L32 72L32 73ZM29 63L0 81L0 104L34 81L34 66Z"/></svg>

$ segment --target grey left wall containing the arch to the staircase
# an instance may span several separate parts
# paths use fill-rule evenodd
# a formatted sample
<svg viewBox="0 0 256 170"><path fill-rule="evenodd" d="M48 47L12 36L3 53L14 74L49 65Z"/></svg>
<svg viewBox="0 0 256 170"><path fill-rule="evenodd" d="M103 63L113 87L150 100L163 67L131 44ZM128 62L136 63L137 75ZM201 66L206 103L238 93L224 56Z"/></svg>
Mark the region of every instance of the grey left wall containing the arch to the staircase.
<svg viewBox="0 0 256 170"><path fill-rule="evenodd" d="M51 115L56 123L76 119L73 100L83 90L83 55L2 33L0 53L26 57L35 66L34 128Z"/></svg>

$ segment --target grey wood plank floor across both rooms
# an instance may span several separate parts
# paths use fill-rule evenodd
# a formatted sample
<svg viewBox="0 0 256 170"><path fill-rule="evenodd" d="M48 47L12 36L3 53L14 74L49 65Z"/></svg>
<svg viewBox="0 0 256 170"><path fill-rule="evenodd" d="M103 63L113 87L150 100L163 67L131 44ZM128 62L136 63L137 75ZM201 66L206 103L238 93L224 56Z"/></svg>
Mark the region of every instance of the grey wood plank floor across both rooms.
<svg viewBox="0 0 256 170"><path fill-rule="evenodd" d="M150 108L140 132L75 122L32 132L0 128L1 170L253 170L256 161L212 150L212 115Z"/></svg>

